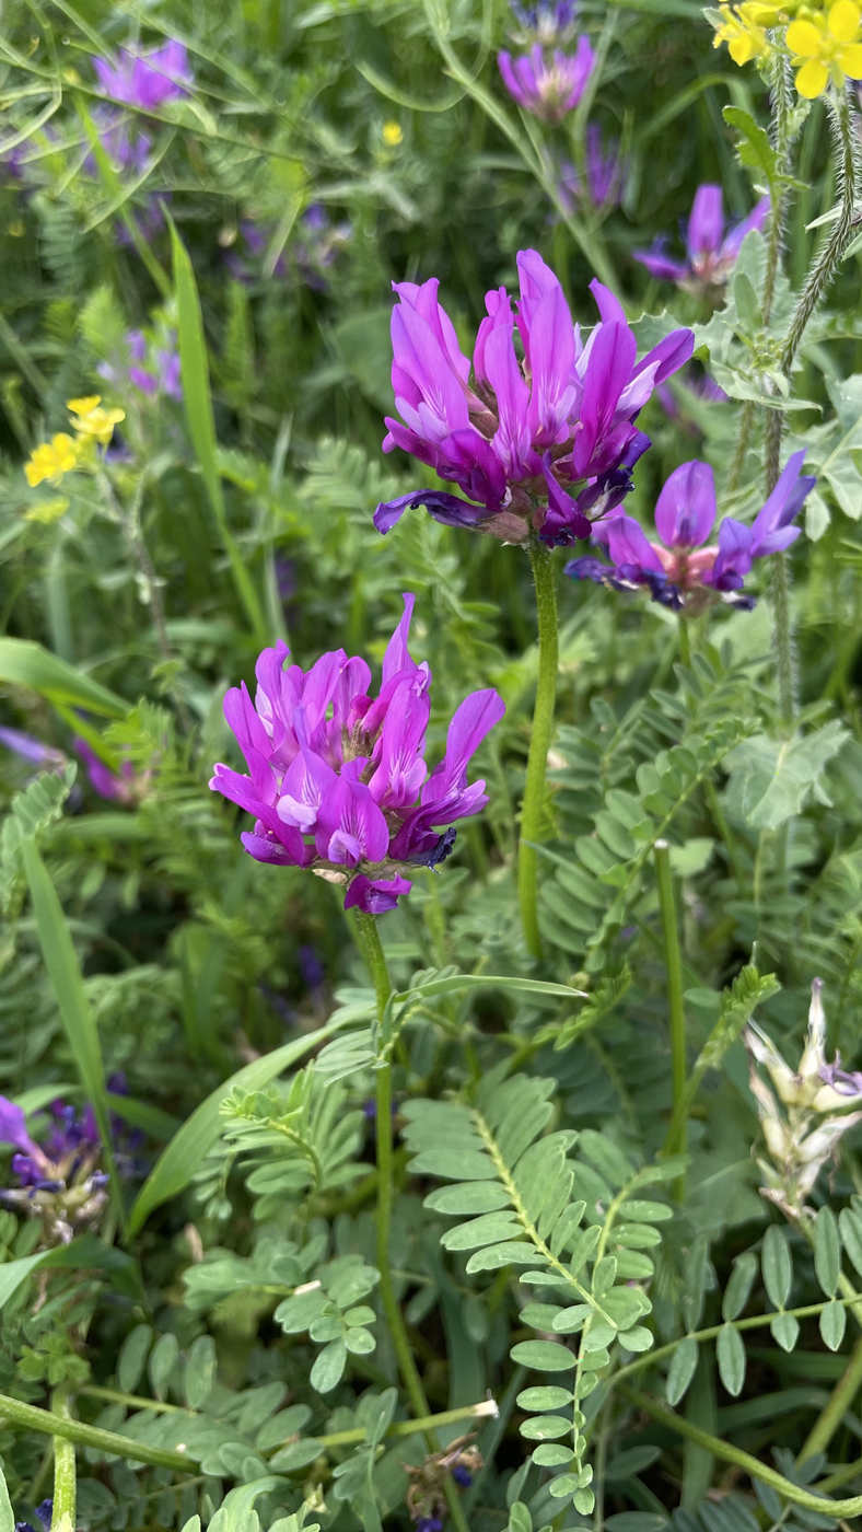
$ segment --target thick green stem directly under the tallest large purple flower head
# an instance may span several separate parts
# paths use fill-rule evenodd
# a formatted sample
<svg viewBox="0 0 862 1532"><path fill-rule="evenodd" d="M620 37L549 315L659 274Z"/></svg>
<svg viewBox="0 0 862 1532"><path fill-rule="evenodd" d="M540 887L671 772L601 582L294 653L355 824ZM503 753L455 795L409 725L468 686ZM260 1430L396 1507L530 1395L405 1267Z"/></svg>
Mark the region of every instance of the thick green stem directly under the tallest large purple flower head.
<svg viewBox="0 0 862 1532"><path fill-rule="evenodd" d="M518 847L518 902L524 939L533 958L542 956L539 935L537 884L539 855L534 843L542 833L542 809L545 804L545 772L548 749L554 731L554 705L557 700L557 594L554 590L554 558L537 538L530 541L530 564L536 585L536 611L539 617L539 677L536 682L536 706L533 709L533 734L527 757L527 780L521 806L521 843Z"/></svg>

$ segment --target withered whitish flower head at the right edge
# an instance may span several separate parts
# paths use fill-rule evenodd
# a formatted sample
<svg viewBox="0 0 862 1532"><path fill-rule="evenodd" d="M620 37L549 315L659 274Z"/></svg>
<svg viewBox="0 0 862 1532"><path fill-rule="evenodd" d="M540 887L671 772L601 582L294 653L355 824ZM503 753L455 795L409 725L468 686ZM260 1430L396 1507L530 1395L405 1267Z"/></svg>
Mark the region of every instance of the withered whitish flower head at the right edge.
<svg viewBox="0 0 862 1532"><path fill-rule="evenodd" d="M811 1007L805 1048L796 1071L790 1069L772 1039L750 1022L744 1042L750 1054L749 1083L758 1106L769 1160L758 1158L764 1177L761 1195L776 1203L790 1218L804 1209L818 1175L842 1135L862 1121L862 1075L844 1074L841 1060L825 1059L825 1017L822 980L811 984ZM767 1085L761 1065L770 1079ZM772 1086L772 1089L770 1089Z"/></svg>

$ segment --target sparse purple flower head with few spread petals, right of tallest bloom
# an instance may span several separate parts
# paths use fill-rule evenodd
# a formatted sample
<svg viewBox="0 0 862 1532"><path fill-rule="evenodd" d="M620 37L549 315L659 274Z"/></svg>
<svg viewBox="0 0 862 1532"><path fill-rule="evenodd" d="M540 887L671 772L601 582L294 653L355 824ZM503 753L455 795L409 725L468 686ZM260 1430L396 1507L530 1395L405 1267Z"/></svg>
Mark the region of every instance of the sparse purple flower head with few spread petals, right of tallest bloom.
<svg viewBox="0 0 862 1532"><path fill-rule="evenodd" d="M815 480L801 475L804 450L795 452L750 527L726 516L718 541L707 542L715 525L715 483L707 463L683 463L671 473L655 506L660 542L651 542L632 516L609 516L593 527L609 564L594 556L573 559L565 573L615 590L648 587L652 599L674 608L703 604L715 593L732 605L752 607L741 594L755 559L789 548L799 536L793 519Z"/></svg>

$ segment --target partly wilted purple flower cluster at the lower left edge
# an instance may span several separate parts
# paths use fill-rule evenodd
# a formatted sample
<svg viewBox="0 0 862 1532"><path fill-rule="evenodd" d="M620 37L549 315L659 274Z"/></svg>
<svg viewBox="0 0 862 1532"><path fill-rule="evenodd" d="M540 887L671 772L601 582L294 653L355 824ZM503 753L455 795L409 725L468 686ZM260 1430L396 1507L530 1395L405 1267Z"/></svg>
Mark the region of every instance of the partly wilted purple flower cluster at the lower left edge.
<svg viewBox="0 0 862 1532"><path fill-rule="evenodd" d="M51 1134L37 1144L20 1106L0 1095L0 1143L12 1144L17 1186L0 1190L0 1203L43 1219L47 1244L69 1244L92 1224L107 1201L107 1175L98 1169L101 1143L90 1106L54 1102Z"/></svg>

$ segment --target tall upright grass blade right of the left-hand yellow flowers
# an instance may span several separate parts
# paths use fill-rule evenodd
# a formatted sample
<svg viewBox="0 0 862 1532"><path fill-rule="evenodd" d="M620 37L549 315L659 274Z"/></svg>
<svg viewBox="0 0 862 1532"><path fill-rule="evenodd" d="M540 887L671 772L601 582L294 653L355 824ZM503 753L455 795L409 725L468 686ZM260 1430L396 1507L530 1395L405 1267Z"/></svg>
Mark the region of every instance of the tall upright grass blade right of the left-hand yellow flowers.
<svg viewBox="0 0 862 1532"><path fill-rule="evenodd" d="M170 218L168 218L170 222ZM231 574L236 585L242 610L248 619L257 643L268 643L263 608L254 588L254 582L242 561L239 547L228 527L225 495L216 463L216 421L213 417L213 395L210 392L210 365L207 360L207 340L204 336L204 317L201 314L201 299L188 251L182 244L173 222L170 222L170 237L173 248L173 280L176 288L176 313L179 331L179 363L182 369L182 395L185 400L185 417L191 444L198 453L204 486L222 539L222 547L230 559Z"/></svg>

